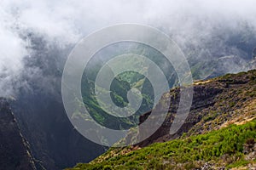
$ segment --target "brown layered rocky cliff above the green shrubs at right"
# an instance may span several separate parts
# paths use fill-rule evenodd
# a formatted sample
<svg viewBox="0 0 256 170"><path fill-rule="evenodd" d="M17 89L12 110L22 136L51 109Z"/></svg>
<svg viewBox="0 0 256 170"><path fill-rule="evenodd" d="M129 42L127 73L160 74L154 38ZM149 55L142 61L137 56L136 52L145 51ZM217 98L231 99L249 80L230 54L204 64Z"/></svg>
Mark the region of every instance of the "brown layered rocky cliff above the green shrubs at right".
<svg viewBox="0 0 256 170"><path fill-rule="evenodd" d="M158 105L165 105L166 97L171 98L171 105L165 122L139 146L143 147L154 142L177 139L183 133L189 135L205 133L223 127L224 123L252 118L256 114L254 106L256 104L255 81L256 70L195 82L193 103L189 116L177 133L170 135L170 127L179 102L179 88L172 89L169 93L163 95L164 97L160 99ZM151 111L148 111L140 116L140 123L144 122L150 113ZM145 130L147 129L141 129L142 132Z"/></svg>

